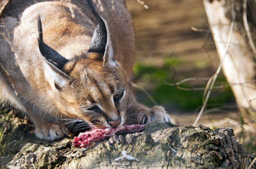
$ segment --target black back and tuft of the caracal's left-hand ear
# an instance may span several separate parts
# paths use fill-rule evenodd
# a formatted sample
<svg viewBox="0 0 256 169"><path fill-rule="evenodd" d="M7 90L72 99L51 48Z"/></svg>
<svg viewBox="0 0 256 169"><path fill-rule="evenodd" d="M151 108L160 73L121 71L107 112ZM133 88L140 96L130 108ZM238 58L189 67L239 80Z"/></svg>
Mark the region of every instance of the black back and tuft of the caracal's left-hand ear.
<svg viewBox="0 0 256 169"><path fill-rule="evenodd" d="M43 41L43 29L40 16L37 18L37 28L38 28L38 46L41 54L46 60L52 63L58 69L62 69L64 64L68 61L66 58L61 56L58 52L52 49L50 46L46 45Z"/></svg>

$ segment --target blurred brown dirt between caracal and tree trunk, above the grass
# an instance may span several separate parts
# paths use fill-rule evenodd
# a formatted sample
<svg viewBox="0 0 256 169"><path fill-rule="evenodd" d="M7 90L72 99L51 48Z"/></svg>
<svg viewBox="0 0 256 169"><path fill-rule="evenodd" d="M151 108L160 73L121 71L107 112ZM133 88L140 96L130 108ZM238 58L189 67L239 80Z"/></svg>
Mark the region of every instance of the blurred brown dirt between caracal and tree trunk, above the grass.
<svg viewBox="0 0 256 169"><path fill-rule="evenodd" d="M202 47L207 43L205 47L213 65L215 68L218 66L219 59L211 33L191 29L193 26L208 31L202 1L145 0L144 3L148 5L148 9L135 0L126 1L135 25L138 61L161 66L162 58L172 54L188 63L181 70L191 71L191 62L195 60L210 63L206 50ZM212 75L214 67L206 65L197 75Z"/></svg>

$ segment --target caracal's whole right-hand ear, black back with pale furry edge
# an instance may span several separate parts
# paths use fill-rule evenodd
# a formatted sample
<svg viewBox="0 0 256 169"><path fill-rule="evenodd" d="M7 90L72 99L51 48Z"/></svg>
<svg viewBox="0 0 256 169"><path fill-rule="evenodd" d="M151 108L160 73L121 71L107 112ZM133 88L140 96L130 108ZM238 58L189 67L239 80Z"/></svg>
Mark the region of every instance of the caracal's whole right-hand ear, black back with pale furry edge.
<svg viewBox="0 0 256 169"><path fill-rule="evenodd" d="M96 56L98 57L95 58L99 60L103 57L103 66L115 67L117 66L117 62L113 56L113 46L110 40L107 21L100 17L91 0L87 0L87 4L94 17L97 19L97 25L93 32L92 41L88 50L89 56L91 53L91 55L95 57L95 53L97 53L98 55L96 54Z"/></svg>

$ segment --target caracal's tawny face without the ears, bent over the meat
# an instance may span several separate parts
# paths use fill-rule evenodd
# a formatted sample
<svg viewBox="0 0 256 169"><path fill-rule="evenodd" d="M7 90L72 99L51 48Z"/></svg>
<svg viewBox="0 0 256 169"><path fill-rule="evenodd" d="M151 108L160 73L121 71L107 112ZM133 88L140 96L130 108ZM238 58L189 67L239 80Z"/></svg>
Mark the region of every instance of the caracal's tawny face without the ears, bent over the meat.
<svg viewBox="0 0 256 169"><path fill-rule="evenodd" d="M117 63L117 62L116 62ZM97 127L118 127L126 120L130 90L124 69L103 66L100 60L70 61L64 69L74 80L58 89L64 114L83 119ZM64 70L65 72L65 70Z"/></svg>

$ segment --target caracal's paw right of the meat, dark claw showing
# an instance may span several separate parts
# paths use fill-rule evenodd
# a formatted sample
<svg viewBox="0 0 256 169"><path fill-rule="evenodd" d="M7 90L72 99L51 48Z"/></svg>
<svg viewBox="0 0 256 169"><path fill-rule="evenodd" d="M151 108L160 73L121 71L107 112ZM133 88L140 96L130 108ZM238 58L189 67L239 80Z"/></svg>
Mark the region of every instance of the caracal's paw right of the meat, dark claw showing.
<svg viewBox="0 0 256 169"><path fill-rule="evenodd" d="M148 111L145 109L140 110L138 121L141 124L147 124L148 122L165 123L171 122L171 117L166 113L163 107L154 106Z"/></svg>

